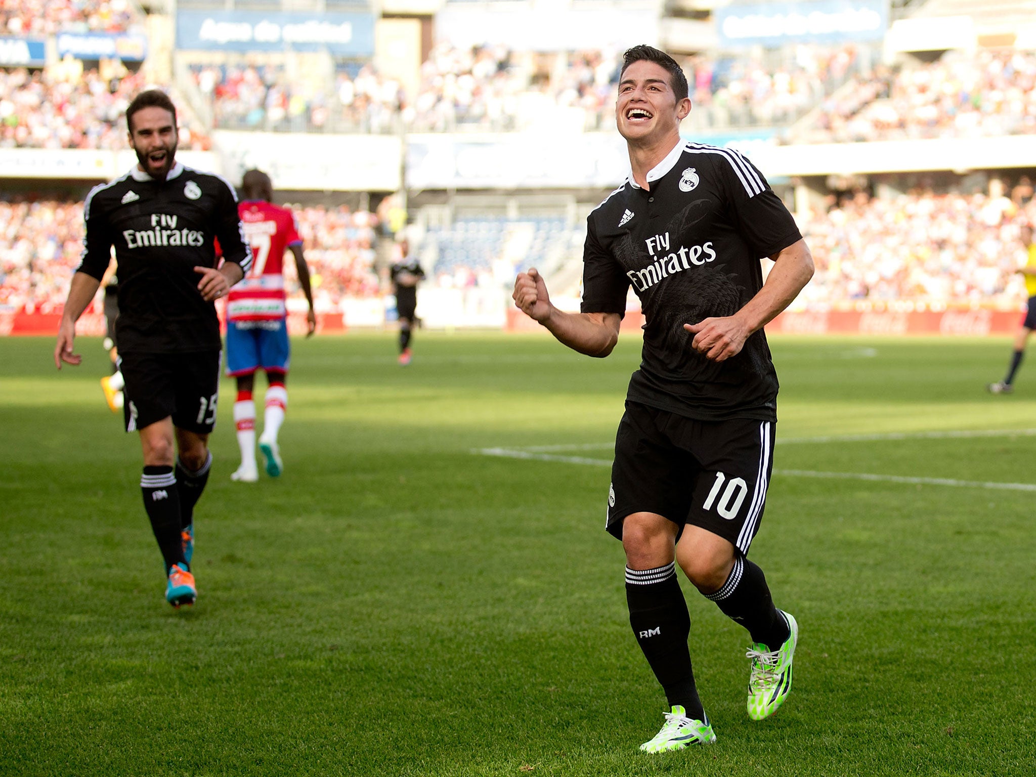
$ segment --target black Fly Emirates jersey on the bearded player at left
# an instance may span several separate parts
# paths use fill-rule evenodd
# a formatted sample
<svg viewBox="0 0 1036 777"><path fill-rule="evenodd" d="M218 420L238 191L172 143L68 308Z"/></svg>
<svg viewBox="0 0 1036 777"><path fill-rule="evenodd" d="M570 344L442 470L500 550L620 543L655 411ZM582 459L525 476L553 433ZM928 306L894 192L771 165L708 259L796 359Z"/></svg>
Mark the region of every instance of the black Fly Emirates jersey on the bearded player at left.
<svg viewBox="0 0 1036 777"><path fill-rule="evenodd" d="M179 163L165 180L134 168L94 186L83 215L86 237L78 271L100 280L115 247L120 351L222 347L215 306L202 298L201 276L194 268L217 266L215 238L226 261L246 272L252 264L230 183Z"/></svg>

